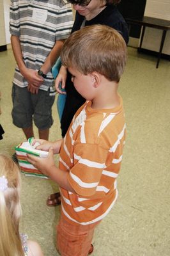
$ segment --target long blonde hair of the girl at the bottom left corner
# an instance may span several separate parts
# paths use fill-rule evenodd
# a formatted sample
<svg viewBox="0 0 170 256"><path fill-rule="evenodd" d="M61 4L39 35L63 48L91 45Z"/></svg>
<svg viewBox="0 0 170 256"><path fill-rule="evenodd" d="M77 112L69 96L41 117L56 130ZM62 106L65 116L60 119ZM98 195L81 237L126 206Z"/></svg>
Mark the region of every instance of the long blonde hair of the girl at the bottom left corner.
<svg viewBox="0 0 170 256"><path fill-rule="evenodd" d="M0 154L0 178L6 189L0 189L0 252L3 256L24 256L19 234L20 172L10 157Z"/></svg>

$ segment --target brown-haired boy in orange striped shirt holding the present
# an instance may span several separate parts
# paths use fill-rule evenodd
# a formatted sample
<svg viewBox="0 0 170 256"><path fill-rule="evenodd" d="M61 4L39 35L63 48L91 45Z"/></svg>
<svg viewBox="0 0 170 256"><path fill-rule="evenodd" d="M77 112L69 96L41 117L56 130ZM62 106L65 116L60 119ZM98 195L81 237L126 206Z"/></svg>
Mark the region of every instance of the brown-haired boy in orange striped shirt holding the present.
<svg viewBox="0 0 170 256"><path fill-rule="evenodd" d="M102 25L86 26L65 42L61 60L76 90L86 98L62 140L35 140L49 150L46 159L27 156L59 184L61 219L57 227L62 256L93 252L93 232L118 197L116 179L125 143L123 102L118 84L127 60L120 33ZM59 168L53 154L60 154Z"/></svg>

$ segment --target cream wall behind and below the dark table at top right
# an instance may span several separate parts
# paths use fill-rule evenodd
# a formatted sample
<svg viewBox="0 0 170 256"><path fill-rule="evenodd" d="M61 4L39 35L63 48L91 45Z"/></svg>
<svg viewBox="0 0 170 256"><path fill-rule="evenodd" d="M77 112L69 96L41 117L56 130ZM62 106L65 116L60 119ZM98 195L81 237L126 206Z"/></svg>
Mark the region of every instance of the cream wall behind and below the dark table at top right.
<svg viewBox="0 0 170 256"><path fill-rule="evenodd" d="M170 0L147 0L144 16L170 20ZM162 30L146 28L142 47L144 49L158 52L161 37ZM162 52L165 54L170 54L170 31L167 31Z"/></svg>

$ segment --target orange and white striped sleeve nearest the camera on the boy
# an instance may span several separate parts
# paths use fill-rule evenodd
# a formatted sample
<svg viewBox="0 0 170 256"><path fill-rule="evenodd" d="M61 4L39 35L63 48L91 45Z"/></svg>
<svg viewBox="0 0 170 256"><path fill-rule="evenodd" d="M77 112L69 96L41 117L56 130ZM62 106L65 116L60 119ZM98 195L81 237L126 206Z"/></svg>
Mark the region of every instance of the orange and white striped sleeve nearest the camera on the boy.
<svg viewBox="0 0 170 256"><path fill-rule="evenodd" d="M68 182L77 195L91 196L96 193L106 158L107 150L100 145L75 145L73 168L68 175Z"/></svg>

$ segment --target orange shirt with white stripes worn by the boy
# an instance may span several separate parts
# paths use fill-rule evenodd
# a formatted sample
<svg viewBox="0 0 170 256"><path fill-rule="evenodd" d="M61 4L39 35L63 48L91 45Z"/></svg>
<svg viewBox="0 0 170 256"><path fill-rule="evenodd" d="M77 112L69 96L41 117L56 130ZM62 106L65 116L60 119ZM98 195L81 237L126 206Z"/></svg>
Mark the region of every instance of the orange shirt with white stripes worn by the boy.
<svg viewBox="0 0 170 256"><path fill-rule="evenodd" d="M86 101L75 113L61 145L59 168L68 172L76 194L60 188L63 216L89 225L102 220L118 197L117 182L125 144L123 102L93 109Z"/></svg>

